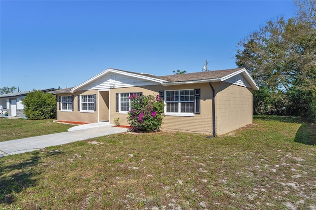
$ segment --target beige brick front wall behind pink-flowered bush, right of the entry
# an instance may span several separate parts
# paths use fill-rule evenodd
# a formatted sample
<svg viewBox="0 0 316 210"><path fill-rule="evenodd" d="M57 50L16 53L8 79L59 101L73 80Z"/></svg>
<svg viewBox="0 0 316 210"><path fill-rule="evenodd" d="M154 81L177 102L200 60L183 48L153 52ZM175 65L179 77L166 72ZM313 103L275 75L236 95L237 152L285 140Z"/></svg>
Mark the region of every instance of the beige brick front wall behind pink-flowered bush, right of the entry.
<svg viewBox="0 0 316 210"><path fill-rule="evenodd" d="M177 85L177 86L146 86L110 89L110 123L119 117L121 125L128 125L127 114L115 111L116 93L143 92L143 95L158 95L161 90L182 90L200 88L200 113L194 117L164 116L162 130L184 131L203 134L212 134L212 91L208 83Z"/></svg>

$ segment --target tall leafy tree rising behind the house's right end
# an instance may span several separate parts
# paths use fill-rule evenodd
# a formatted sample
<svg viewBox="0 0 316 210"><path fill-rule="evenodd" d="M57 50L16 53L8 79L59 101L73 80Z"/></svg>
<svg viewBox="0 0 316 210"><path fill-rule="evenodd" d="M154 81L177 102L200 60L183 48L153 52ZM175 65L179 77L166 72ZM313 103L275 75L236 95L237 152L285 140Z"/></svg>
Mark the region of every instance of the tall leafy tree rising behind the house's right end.
<svg viewBox="0 0 316 210"><path fill-rule="evenodd" d="M304 98L309 111L301 106L300 112L310 113L316 120L316 0L298 1L297 5L298 17L268 21L240 41L236 64L250 71L259 86L266 87L271 98L279 98L283 107L293 104L296 97L292 96ZM265 91L258 96L264 96Z"/></svg>

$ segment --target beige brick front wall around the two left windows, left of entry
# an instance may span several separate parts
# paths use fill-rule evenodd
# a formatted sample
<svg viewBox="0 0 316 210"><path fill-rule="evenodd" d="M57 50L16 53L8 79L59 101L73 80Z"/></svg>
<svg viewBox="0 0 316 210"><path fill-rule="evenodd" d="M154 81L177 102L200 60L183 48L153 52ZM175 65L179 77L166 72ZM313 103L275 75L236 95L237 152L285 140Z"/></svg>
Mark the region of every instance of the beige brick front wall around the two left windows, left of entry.
<svg viewBox="0 0 316 210"><path fill-rule="evenodd" d="M74 110L61 111L58 108L59 107L59 102L58 102L57 103L57 120L71 121L71 122L86 122L86 123L98 122L97 111L93 111L92 113L78 111L78 95L94 95L94 94L96 94L97 97L99 97L97 90L78 91L76 93L58 94L57 99L58 99L58 96L72 96L73 95L74 96Z"/></svg>

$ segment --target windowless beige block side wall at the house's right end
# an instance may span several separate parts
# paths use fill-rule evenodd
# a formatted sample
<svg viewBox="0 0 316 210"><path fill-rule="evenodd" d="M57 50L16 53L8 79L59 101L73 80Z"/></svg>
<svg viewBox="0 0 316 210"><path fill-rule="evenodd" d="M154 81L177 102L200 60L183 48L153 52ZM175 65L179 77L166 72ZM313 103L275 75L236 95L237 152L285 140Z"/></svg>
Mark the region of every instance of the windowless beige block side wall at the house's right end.
<svg viewBox="0 0 316 210"><path fill-rule="evenodd" d="M252 123L252 89L227 82L217 83L215 98L217 135Z"/></svg>

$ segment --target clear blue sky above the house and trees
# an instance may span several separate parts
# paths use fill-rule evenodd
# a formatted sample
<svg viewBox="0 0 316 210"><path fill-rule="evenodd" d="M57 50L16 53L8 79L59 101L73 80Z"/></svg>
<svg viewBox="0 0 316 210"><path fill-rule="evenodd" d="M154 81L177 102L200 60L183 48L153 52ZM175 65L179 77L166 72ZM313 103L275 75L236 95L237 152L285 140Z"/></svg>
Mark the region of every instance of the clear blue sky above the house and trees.
<svg viewBox="0 0 316 210"><path fill-rule="evenodd" d="M293 1L0 1L0 87L77 86L107 68L236 68L237 43Z"/></svg>

